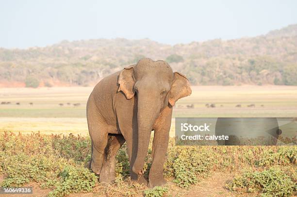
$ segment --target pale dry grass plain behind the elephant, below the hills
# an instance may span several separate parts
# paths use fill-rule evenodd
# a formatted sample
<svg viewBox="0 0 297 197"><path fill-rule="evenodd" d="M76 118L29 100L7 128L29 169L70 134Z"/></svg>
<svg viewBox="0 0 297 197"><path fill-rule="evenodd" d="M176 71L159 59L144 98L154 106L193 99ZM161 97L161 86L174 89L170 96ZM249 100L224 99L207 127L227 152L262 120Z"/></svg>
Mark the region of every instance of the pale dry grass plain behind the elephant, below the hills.
<svg viewBox="0 0 297 197"><path fill-rule="evenodd" d="M0 105L0 131L86 135L85 105L92 89L1 88L0 103L10 104ZM74 106L75 103L79 104ZM247 107L251 104L255 106ZM174 117L296 116L297 86L192 86L192 95L179 100L174 107L171 136L174 136Z"/></svg>

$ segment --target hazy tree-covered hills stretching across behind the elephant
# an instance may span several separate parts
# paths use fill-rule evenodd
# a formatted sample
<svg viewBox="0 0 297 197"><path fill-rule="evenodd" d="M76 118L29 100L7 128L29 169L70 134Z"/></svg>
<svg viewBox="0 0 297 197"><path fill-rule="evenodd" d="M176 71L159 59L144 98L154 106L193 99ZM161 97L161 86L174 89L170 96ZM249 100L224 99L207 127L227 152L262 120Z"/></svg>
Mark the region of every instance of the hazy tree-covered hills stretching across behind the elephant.
<svg viewBox="0 0 297 197"><path fill-rule="evenodd" d="M297 85L297 24L257 37L174 46L116 38L0 49L0 86L93 85L142 57L166 60L193 85Z"/></svg>

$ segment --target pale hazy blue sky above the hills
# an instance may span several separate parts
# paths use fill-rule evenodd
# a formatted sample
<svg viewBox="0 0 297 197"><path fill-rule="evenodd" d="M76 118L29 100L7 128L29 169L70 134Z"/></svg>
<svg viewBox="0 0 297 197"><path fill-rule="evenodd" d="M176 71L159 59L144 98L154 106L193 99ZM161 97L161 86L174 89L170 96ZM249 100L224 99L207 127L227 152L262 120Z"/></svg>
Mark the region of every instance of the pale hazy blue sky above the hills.
<svg viewBox="0 0 297 197"><path fill-rule="evenodd" d="M1 0L0 47L149 38L177 44L265 34L297 23L297 0Z"/></svg>

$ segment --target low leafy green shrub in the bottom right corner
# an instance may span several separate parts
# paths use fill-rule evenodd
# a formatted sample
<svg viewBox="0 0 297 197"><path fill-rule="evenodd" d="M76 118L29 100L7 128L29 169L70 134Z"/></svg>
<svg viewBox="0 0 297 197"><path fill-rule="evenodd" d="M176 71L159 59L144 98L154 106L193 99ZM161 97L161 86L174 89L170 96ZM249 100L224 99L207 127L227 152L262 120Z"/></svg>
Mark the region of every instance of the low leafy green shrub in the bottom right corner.
<svg viewBox="0 0 297 197"><path fill-rule="evenodd" d="M283 197L296 194L297 184L278 168L271 167L262 172L246 172L228 183L231 191L245 189L247 192L260 191L262 196Z"/></svg>

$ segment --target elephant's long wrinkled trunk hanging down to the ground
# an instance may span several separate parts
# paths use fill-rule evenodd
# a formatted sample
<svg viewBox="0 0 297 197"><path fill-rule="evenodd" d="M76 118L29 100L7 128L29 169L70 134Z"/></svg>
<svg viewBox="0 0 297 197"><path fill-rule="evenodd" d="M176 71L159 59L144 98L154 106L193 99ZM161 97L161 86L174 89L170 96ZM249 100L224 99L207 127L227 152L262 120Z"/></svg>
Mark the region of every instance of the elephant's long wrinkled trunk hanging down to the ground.
<svg viewBox="0 0 297 197"><path fill-rule="evenodd" d="M151 96L150 96L151 97ZM154 99L138 96L138 148L137 156L132 167L132 171L137 174L143 174L143 165L148 153L148 145L153 124L160 113L158 104L154 104Z"/></svg>

